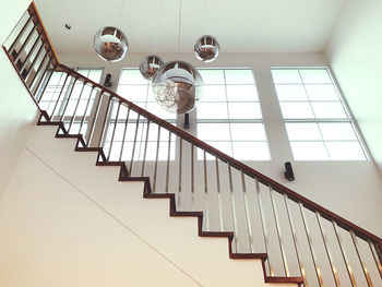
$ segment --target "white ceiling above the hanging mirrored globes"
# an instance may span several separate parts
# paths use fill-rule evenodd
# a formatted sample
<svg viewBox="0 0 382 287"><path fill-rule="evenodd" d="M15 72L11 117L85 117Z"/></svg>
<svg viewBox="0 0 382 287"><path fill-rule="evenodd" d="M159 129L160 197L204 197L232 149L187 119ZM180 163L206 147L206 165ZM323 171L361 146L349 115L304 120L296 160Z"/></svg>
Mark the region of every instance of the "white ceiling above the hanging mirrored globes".
<svg viewBox="0 0 382 287"><path fill-rule="evenodd" d="M36 0L45 26L59 52L92 52L93 36L103 26L120 27L130 52L176 52L179 0ZM222 52L322 51L348 0L182 0L181 51L190 52L208 33ZM121 13L120 13L121 11ZM121 14L121 16L119 16ZM64 24L70 23L70 31Z"/></svg>

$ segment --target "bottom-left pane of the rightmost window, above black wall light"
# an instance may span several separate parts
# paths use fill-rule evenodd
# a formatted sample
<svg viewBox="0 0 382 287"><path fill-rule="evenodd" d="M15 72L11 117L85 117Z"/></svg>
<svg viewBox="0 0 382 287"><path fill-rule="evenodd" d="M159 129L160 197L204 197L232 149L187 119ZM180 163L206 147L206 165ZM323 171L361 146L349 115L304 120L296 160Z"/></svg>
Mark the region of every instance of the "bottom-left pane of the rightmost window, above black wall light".
<svg viewBox="0 0 382 287"><path fill-rule="evenodd" d="M323 142L290 142L296 160L329 160Z"/></svg>

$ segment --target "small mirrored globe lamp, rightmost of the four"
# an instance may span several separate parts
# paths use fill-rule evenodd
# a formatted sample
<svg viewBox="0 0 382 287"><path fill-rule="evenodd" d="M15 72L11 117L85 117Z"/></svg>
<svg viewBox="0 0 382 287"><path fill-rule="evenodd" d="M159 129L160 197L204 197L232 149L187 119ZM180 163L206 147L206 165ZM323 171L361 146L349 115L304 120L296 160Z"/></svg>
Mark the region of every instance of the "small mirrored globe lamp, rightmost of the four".
<svg viewBox="0 0 382 287"><path fill-rule="evenodd" d="M194 46L195 57L203 62L215 61L220 51L220 46L215 37L204 35L200 37Z"/></svg>

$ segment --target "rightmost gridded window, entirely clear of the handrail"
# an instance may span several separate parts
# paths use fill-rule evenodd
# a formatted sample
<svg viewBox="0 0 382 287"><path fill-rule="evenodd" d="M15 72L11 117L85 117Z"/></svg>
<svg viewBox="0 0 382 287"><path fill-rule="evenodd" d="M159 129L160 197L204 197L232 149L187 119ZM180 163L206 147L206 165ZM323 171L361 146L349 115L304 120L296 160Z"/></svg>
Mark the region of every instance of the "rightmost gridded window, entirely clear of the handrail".
<svg viewBox="0 0 382 287"><path fill-rule="evenodd" d="M272 69L296 160L366 160L353 119L326 68Z"/></svg>

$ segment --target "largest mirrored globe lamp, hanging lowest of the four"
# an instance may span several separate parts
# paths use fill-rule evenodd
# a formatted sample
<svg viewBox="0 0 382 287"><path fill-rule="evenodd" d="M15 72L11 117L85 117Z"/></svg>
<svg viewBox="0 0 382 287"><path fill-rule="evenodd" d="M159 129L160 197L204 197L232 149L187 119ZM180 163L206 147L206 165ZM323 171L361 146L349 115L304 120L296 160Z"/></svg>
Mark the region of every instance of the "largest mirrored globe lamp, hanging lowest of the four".
<svg viewBox="0 0 382 287"><path fill-rule="evenodd" d="M191 111L202 95L203 79L188 62L165 63L153 79L155 100L172 113Z"/></svg>

